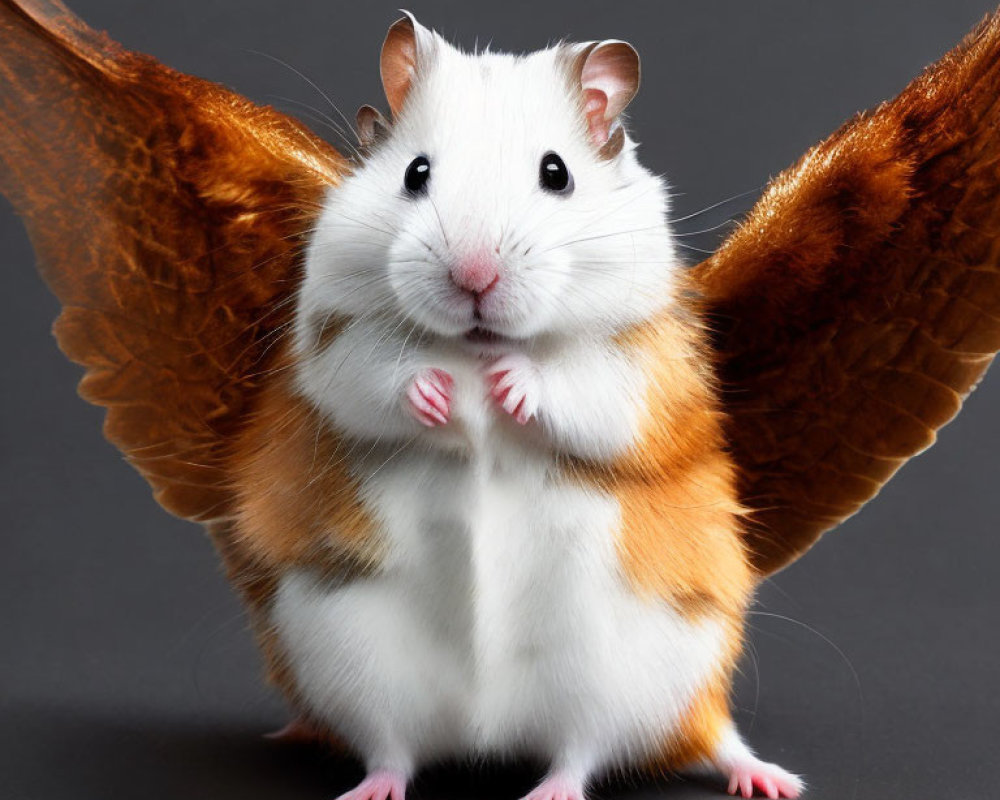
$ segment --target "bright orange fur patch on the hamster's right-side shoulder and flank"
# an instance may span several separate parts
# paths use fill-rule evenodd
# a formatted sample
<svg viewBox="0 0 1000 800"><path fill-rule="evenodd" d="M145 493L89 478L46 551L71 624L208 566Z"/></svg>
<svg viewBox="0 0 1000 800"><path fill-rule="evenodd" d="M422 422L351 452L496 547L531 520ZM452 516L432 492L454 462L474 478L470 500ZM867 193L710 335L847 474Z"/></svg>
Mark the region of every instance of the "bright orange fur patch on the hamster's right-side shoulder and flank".
<svg viewBox="0 0 1000 800"><path fill-rule="evenodd" d="M619 345L648 376L640 435L611 464L568 467L618 500L619 556L636 592L692 618L738 619L751 590L742 508L701 337L692 312L679 307L622 335Z"/></svg>

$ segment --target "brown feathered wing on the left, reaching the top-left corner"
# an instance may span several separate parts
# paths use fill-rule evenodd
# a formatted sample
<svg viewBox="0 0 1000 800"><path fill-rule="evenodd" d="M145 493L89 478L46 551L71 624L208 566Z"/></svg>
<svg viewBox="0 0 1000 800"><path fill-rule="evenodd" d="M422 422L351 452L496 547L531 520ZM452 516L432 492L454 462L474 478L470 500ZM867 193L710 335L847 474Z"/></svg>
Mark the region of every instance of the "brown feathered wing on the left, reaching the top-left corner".
<svg viewBox="0 0 1000 800"><path fill-rule="evenodd" d="M232 511L227 448L343 162L298 123L0 0L0 190L63 305L80 393L168 510Z"/></svg>

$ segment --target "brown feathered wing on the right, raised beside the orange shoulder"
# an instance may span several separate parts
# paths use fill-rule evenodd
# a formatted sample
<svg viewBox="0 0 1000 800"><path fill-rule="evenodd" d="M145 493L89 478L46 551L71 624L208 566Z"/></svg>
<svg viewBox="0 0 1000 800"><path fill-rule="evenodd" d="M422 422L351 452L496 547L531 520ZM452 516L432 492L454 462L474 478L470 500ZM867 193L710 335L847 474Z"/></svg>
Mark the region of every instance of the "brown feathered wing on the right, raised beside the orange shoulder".
<svg viewBox="0 0 1000 800"><path fill-rule="evenodd" d="M932 444L1000 348L1000 18L774 180L693 279L773 572Z"/></svg>

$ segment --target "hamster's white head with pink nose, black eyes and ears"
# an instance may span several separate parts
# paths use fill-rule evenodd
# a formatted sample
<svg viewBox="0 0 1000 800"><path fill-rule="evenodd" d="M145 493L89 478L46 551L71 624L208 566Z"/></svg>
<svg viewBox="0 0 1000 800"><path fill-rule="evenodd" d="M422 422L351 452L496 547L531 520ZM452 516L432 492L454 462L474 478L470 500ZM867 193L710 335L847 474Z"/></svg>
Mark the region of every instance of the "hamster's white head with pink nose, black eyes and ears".
<svg viewBox="0 0 1000 800"><path fill-rule="evenodd" d="M630 45L469 54L408 16L381 72L392 122L359 112L364 156L310 242L300 346L359 316L479 348L613 334L669 302L666 187L619 120Z"/></svg>

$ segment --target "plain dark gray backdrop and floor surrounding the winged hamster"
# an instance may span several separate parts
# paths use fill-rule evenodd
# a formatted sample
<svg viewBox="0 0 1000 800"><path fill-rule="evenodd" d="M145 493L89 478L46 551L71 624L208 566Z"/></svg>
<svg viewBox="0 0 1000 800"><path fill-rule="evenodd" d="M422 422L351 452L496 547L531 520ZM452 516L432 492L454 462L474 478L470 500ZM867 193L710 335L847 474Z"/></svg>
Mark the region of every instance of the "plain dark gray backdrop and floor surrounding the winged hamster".
<svg viewBox="0 0 1000 800"><path fill-rule="evenodd" d="M384 107L377 54L396 3L77 0L92 25L182 70L292 110ZM617 37L643 56L632 108L680 226L745 210L769 176L901 89L988 0L878 3L413 0L459 42L504 49ZM325 109L328 110L328 109ZM2 202L2 201L0 201ZM686 237L710 248L718 232ZM260 739L283 722L206 539L172 519L74 396L56 305L0 205L0 798L323 798L357 767ZM692 256L697 253L692 251ZM743 730L808 797L996 796L1000 695L1000 374L930 453L763 588ZM436 770L414 798L506 798L532 769ZM611 783L601 798L694 798L696 783Z"/></svg>

